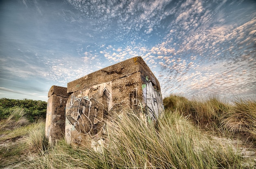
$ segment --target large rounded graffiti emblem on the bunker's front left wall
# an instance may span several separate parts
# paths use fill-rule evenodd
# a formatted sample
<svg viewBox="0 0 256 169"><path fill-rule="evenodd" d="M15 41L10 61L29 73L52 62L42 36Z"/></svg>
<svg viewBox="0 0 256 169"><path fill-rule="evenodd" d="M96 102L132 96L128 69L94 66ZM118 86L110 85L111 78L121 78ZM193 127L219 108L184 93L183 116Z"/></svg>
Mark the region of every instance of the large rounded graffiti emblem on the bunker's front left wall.
<svg viewBox="0 0 256 169"><path fill-rule="evenodd" d="M76 99L66 112L66 118L79 134L94 136L104 126L104 105L91 97Z"/></svg>

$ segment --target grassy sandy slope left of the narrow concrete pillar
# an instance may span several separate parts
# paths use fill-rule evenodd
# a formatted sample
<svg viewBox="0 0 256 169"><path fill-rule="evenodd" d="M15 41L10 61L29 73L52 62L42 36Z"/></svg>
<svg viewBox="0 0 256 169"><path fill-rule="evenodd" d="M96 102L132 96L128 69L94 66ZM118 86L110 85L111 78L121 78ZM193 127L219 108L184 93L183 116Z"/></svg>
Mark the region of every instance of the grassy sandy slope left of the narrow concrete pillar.
<svg viewBox="0 0 256 169"><path fill-rule="evenodd" d="M22 108L0 121L0 168L20 164L43 147L45 122L30 123Z"/></svg>

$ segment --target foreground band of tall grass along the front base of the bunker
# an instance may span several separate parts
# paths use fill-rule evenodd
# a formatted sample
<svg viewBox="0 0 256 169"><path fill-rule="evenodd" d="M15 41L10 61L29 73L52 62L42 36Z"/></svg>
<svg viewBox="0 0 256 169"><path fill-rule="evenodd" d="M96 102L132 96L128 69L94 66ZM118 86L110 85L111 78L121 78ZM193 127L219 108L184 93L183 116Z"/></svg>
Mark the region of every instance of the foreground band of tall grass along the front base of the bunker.
<svg viewBox="0 0 256 169"><path fill-rule="evenodd" d="M241 157L229 146L200 133L180 112L165 112L156 124L135 112L106 122L101 151L72 148L64 140L41 150L30 168L44 169L212 169L240 168ZM28 167L28 166L26 166Z"/></svg>

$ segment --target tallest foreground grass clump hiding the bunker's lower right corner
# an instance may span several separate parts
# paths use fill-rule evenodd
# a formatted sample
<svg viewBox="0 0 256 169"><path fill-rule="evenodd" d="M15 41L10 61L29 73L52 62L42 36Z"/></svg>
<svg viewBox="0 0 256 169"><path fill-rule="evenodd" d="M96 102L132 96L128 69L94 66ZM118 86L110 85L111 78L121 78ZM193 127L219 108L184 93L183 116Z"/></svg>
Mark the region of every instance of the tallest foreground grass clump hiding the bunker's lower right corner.
<svg viewBox="0 0 256 169"><path fill-rule="evenodd" d="M116 130L112 154L118 154L117 168L226 168L234 159L239 164L236 154L223 153L179 112L166 112L157 129L127 115L111 126Z"/></svg>

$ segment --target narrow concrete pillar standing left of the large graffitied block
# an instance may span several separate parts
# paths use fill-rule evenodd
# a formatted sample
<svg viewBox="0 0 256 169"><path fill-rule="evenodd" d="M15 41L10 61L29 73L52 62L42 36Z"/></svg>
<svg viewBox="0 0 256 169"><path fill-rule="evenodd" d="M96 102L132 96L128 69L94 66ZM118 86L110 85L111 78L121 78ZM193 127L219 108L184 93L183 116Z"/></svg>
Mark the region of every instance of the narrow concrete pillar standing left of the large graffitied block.
<svg viewBox="0 0 256 169"><path fill-rule="evenodd" d="M54 143L65 134L65 108L70 94L67 88L52 86L48 92L45 136Z"/></svg>

